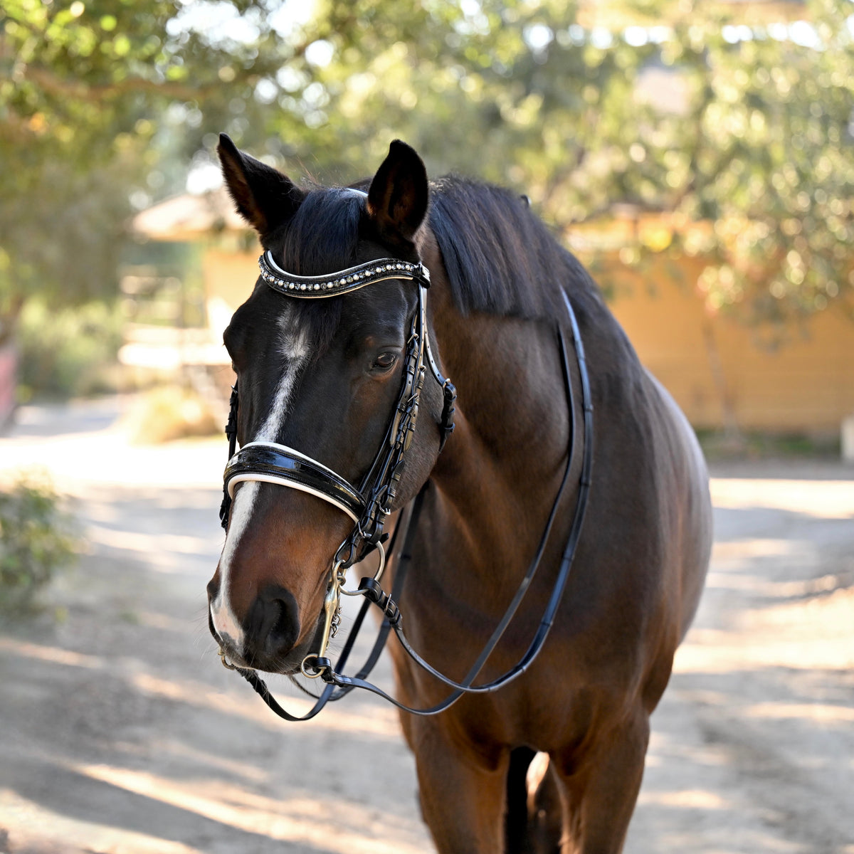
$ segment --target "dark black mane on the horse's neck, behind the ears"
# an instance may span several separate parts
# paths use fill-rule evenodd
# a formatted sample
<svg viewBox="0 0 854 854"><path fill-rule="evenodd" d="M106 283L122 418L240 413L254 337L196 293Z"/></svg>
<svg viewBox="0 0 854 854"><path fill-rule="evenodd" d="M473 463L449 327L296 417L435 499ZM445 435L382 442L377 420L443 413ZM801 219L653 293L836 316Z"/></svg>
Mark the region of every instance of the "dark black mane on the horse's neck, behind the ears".
<svg viewBox="0 0 854 854"><path fill-rule="evenodd" d="M565 312L561 290L582 313L600 301L578 260L510 190L439 178L430 185L430 229L461 313L554 318Z"/></svg>

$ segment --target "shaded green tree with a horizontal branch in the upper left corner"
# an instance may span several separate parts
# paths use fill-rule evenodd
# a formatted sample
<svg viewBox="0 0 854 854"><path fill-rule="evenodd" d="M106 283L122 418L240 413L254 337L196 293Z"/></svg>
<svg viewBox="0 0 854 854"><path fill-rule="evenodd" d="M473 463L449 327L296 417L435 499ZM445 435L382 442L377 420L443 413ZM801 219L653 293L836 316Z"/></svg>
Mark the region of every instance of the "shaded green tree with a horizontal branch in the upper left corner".
<svg viewBox="0 0 854 854"><path fill-rule="evenodd" d="M200 103L211 122L229 112L225 68L243 69L233 78L244 86L257 77L253 44L170 34L182 9L167 0L3 3L0 343L30 295L56 306L115 293L132 191L164 184L165 156L187 150L175 144L176 126L190 131L181 139L190 153L200 146Z"/></svg>

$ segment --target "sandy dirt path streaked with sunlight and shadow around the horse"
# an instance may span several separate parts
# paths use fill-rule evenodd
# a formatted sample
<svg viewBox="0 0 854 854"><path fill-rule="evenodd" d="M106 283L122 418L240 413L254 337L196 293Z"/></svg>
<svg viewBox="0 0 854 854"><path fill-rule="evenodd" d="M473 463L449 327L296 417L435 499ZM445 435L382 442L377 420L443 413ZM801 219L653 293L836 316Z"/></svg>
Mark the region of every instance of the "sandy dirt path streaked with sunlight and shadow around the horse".
<svg viewBox="0 0 854 854"><path fill-rule="evenodd" d="M0 627L0 854L431 851L389 708L289 726L219 667L223 443L127 447L116 414L31 407L0 439L0 477L47 468L90 543L59 622ZM627 854L854 854L854 471L736 466L713 492Z"/></svg>

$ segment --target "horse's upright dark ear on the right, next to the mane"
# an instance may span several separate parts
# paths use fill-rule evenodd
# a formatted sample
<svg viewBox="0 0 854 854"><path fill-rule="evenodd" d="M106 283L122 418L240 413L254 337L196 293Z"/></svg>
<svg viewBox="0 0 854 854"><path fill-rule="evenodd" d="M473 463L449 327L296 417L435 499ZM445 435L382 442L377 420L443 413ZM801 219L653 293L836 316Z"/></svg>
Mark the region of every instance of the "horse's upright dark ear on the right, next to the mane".
<svg viewBox="0 0 854 854"><path fill-rule="evenodd" d="M427 170L407 143L395 139L368 190L368 213L385 243L413 243L430 194Z"/></svg>

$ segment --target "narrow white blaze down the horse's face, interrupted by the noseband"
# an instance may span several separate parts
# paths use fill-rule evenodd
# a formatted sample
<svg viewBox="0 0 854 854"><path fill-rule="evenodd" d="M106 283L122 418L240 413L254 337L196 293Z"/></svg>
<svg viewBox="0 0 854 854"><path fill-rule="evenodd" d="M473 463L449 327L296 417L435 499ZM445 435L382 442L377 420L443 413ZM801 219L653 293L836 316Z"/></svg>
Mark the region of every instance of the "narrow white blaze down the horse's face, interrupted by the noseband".
<svg viewBox="0 0 854 854"><path fill-rule="evenodd" d="M281 330L279 352L284 356L284 371L278 381L270 412L267 413L260 430L253 436L253 442L277 441L284 426L284 419L288 415L294 386L308 360L307 336L304 330L292 328L290 312L283 313L278 325ZM211 603L213 628L220 635L223 633L229 635L238 648L243 646L243 629L229 601L229 574L237 546L249 527L259 488L260 483L257 481L247 481L239 484L235 491L229 511L231 522L228 533L225 535L222 555L219 558L219 593Z"/></svg>

